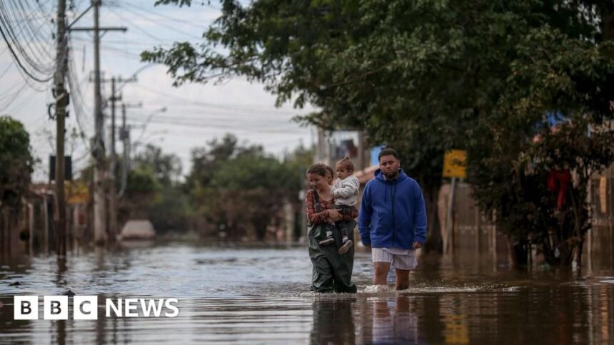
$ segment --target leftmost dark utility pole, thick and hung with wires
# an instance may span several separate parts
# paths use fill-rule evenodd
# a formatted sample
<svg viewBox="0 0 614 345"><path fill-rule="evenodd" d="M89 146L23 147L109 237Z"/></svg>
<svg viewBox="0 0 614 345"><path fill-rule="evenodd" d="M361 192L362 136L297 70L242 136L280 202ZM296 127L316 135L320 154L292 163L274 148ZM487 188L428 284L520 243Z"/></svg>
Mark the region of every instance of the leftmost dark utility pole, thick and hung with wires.
<svg viewBox="0 0 614 345"><path fill-rule="evenodd" d="M57 12L56 74L54 98L56 101L56 252L66 256L66 197L64 195L64 128L66 126L66 105L69 95L64 88L68 45L66 41L66 0L58 0Z"/></svg>

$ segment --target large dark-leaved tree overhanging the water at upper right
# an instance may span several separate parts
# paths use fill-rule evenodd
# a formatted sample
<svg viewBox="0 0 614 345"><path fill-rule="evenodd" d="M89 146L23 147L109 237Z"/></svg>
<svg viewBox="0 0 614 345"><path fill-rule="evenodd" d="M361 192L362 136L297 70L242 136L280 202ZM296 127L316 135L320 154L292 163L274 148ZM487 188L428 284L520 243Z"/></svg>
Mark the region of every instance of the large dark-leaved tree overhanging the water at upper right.
<svg viewBox="0 0 614 345"><path fill-rule="evenodd" d="M190 1L156 4L170 3ZM305 120L323 128L364 129L371 143L406 148L409 169L417 168L418 180L431 181L426 184L435 189L441 153L468 150L475 197L483 210L496 213L505 233L540 244L553 263L570 262L568 253L581 248L587 206L576 203L569 211L575 216L565 218L573 221L549 228L560 238L557 243L570 245L556 244L564 259L548 254L554 251L544 236L535 235L544 230L532 219L547 219L552 205L537 207L530 195L549 194L539 174L520 167L530 157L541 164L538 171L551 170L544 162L555 150L545 143L557 143L559 151L573 153L568 160L582 162L568 164L582 170L572 190L583 190L585 172L612 162L605 140L611 133L605 130L600 138L555 140L612 120L614 49L607 41L612 5L563 0L221 4L222 14L203 45L176 43L142 58L165 63L176 84L246 76L265 83L278 103L313 103L321 111ZM555 134L545 125L549 113L560 114L567 123L563 127L576 131ZM533 143L535 135L542 144ZM603 149L598 155L571 150L576 139ZM521 216L532 207L531 219Z"/></svg>

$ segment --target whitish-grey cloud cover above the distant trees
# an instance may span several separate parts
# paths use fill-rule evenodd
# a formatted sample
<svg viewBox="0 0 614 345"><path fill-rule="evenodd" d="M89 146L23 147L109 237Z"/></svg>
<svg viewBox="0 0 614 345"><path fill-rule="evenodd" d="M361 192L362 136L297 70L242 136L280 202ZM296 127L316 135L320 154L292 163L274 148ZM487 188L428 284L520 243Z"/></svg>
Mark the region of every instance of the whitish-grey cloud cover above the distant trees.
<svg viewBox="0 0 614 345"><path fill-rule="evenodd" d="M87 2L87 1L86 1ZM138 54L153 46L150 43L170 44L173 41L186 41L192 39L181 34L181 31L200 36L202 29L206 28L216 19L219 12L208 6L192 6L178 9L174 6L151 6L151 1L129 1L124 6L119 2L119 7L111 6L101 9L101 25L103 26L127 26L126 34L109 32L102 37L101 70L105 78L111 76L123 76L128 78L144 66L139 61ZM81 13L86 4L76 11ZM117 14L120 14L118 16ZM164 17L168 17L165 21ZM123 18L123 19L122 19ZM124 20L126 19L126 20ZM173 20L171 20L173 19ZM79 26L91 25L91 14L87 14L79 21ZM163 24L163 25L161 25ZM146 33L144 33L146 31ZM94 114L92 113L94 100L94 86L89 82L89 76L93 70L93 48L91 35L84 33L71 34L72 56L74 70L72 71L80 82L79 91L84 98L85 111L81 113L79 120L81 128L87 138L78 139L75 143L74 158L79 160L77 168L83 168L89 161L88 144L93 135ZM154 39L154 38L157 38ZM49 36L51 40L51 36ZM192 39L193 41L193 39ZM6 53L4 46L0 44L0 73L4 71L11 56ZM2 78L0 92L10 93L24 86L24 79L16 70L15 66ZM32 91L25 87L24 92L17 95L14 104L9 108L0 108L0 113L9 110L7 115L21 120L26 125L26 130L31 135L31 145L34 155L41 159L41 164L36 167L35 180L47 180L48 157L53 152L43 134L44 130L55 133L55 123L49 120L47 104L51 101L51 83L41 86L47 88L45 92ZM110 83L102 86L103 95L110 95ZM264 149L276 155L283 152L284 148L292 149L299 143L311 143L311 130L301 128L293 123L291 118L298 113L307 113L313 109L295 110L286 104L281 108L275 108L275 97L264 91L263 86L257 83L248 83L244 78L236 78L223 85L213 83L187 84L179 88L172 86L171 78L166 74L164 66L154 66L139 73L137 83L129 83L123 89L123 102L143 103L141 109L129 109L130 123L142 124L147 116L154 110L166 107L166 113L160 113L151 120L146 127L144 141L149 141L161 146L165 152L175 153L183 163L183 172L188 171L191 149L203 146L213 138L220 138L226 133L234 133L239 140L247 140L249 143L261 144ZM75 98L73 96L73 101ZM0 106L4 103L0 99ZM17 103L21 103L18 106ZM110 114L109 109L104 110ZM117 110L116 123L119 125L121 111ZM106 123L109 123L106 118ZM67 119L67 128L79 128L76 113L71 108L71 115ZM134 128L133 139L141 132L140 128ZM117 151L121 152L121 145L117 145Z"/></svg>

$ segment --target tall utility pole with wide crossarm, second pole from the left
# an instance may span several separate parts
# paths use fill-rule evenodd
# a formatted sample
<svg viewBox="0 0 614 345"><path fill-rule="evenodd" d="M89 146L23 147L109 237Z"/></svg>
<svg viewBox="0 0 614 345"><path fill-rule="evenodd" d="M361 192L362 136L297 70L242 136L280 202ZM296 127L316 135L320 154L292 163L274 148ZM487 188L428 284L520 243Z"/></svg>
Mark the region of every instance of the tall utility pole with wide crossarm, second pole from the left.
<svg viewBox="0 0 614 345"><path fill-rule="evenodd" d="M104 115L102 113L102 96L100 92L100 31L126 31L124 27L100 27L101 0L91 0L94 9L93 28L74 28L71 31L94 31L94 140L92 143L92 156L94 158L94 242L97 245L105 244L106 235L106 153L104 148Z"/></svg>

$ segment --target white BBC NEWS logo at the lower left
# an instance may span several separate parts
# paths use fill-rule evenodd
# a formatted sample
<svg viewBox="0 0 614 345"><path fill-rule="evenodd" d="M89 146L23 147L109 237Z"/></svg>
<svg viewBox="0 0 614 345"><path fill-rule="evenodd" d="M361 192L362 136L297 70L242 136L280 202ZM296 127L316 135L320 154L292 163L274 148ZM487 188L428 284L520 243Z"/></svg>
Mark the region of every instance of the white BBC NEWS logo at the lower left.
<svg viewBox="0 0 614 345"><path fill-rule="evenodd" d="M39 297L38 296L15 296L14 319L38 320ZM139 307L143 317L176 317L179 315L177 307L178 299L106 299L106 317L139 317ZM44 296L43 319L67 320L69 319L68 296ZM73 319L97 320L98 319L98 296L74 296Z"/></svg>

